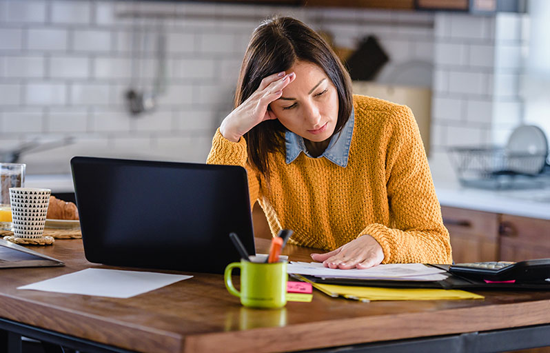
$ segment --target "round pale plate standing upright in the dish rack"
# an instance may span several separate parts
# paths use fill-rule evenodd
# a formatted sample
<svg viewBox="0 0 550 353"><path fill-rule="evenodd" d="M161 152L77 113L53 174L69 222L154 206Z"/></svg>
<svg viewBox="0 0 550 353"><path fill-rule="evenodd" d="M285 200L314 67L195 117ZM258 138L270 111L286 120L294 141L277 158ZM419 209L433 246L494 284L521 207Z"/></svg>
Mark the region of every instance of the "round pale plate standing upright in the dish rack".
<svg viewBox="0 0 550 353"><path fill-rule="evenodd" d="M506 145L509 170L538 174L548 157L546 135L535 125L522 125L513 130Z"/></svg>

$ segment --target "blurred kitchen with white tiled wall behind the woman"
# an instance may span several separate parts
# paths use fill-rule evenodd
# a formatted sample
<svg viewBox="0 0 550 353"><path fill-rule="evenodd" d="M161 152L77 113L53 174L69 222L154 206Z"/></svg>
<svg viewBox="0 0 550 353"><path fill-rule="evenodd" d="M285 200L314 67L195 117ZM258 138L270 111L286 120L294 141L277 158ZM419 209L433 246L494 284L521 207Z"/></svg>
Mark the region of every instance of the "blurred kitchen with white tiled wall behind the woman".
<svg viewBox="0 0 550 353"><path fill-rule="evenodd" d="M546 0L0 0L3 161L61 194L74 155L203 163L273 14L412 108L456 261L550 257Z"/></svg>

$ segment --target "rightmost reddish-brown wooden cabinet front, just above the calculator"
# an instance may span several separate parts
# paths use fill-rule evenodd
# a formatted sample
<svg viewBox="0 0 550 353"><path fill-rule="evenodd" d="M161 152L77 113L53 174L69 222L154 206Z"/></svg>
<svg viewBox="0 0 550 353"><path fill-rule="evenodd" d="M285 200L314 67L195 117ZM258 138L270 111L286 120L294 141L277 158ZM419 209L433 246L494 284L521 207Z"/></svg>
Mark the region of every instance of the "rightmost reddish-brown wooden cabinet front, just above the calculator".
<svg viewBox="0 0 550 353"><path fill-rule="evenodd" d="M503 261L550 258L550 221L503 214L500 258Z"/></svg>

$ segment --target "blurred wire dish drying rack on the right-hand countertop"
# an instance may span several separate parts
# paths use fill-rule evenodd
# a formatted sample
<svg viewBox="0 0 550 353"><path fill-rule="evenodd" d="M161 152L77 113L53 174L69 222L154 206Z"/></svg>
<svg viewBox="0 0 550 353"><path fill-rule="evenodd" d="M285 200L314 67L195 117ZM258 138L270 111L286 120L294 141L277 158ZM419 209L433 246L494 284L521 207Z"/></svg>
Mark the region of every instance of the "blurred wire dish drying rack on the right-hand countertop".
<svg viewBox="0 0 550 353"><path fill-rule="evenodd" d="M550 186L547 153L511 152L501 147L451 147L447 152L465 187L518 190Z"/></svg>

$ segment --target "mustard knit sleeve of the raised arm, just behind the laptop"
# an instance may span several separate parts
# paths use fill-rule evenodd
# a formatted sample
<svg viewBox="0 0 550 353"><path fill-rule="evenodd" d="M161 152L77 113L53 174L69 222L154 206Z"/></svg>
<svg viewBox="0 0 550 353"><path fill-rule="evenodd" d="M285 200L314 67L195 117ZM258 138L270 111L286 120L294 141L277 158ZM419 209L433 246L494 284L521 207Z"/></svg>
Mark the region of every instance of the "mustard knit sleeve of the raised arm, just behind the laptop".
<svg viewBox="0 0 550 353"><path fill-rule="evenodd" d="M241 167L245 168L248 176L250 208L254 207L254 203L256 203L256 200L260 196L260 180L258 172L247 161L247 145L244 137L241 137L238 142L229 141L223 137L218 128L212 139L212 148L210 148L206 163L241 165Z"/></svg>

